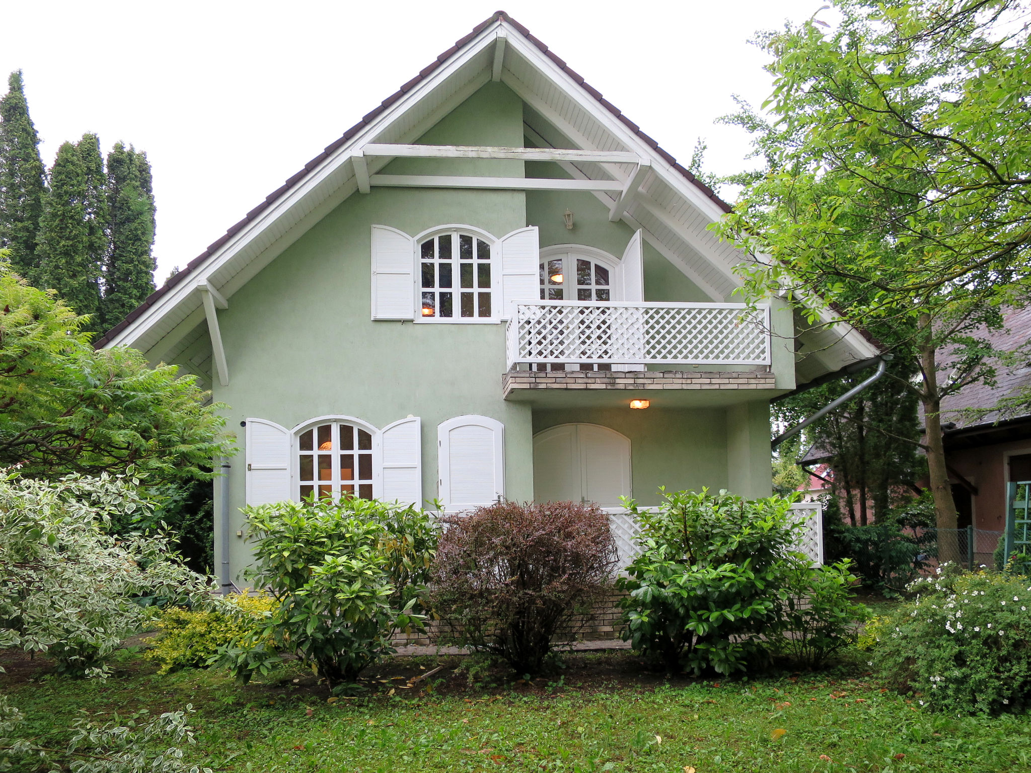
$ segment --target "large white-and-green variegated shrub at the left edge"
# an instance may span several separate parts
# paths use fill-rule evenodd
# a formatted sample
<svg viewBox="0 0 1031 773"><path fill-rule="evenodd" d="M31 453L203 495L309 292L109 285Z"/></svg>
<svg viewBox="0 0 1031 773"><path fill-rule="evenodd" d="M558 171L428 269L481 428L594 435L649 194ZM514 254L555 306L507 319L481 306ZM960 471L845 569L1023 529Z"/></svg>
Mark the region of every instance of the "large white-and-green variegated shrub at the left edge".
<svg viewBox="0 0 1031 773"><path fill-rule="evenodd" d="M166 534L115 537L113 519L146 514L137 480L0 473L0 647L54 658L74 676L106 659L158 604L206 604L211 585Z"/></svg>

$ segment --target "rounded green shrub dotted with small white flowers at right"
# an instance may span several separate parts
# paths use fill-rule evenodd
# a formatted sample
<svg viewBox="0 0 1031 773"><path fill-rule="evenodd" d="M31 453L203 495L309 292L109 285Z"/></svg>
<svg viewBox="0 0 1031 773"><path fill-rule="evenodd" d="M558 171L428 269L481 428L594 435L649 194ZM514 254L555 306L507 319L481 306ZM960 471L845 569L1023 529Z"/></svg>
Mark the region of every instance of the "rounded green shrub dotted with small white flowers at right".
<svg viewBox="0 0 1031 773"><path fill-rule="evenodd" d="M1031 708L1031 579L999 572L914 581L914 601L872 632L871 665L899 692L949 712Z"/></svg>

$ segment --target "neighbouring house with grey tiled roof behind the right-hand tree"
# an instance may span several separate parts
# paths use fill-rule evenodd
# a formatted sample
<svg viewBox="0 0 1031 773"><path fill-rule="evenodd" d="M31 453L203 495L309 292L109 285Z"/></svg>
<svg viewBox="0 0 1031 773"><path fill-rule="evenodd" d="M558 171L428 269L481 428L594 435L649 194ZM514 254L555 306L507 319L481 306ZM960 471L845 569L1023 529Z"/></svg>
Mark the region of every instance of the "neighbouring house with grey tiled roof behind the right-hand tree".
<svg viewBox="0 0 1031 773"><path fill-rule="evenodd" d="M1031 339L1031 308L1009 311L1003 329L988 331L996 349L1011 351ZM1005 528L1010 484L1031 481L1031 411L1002 417L999 400L1031 386L1031 367L1000 371L995 386L975 383L941 403L945 461L961 529ZM962 411L988 413L966 418Z"/></svg>

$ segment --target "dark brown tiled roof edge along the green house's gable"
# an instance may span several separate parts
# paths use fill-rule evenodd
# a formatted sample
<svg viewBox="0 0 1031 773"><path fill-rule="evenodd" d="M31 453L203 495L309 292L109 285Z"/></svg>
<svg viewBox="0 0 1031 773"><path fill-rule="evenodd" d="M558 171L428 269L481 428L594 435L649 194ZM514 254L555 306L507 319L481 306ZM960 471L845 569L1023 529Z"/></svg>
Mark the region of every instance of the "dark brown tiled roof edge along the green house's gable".
<svg viewBox="0 0 1031 773"><path fill-rule="evenodd" d="M690 170L688 170L683 165L678 164L676 162L676 159L674 159L672 156L670 156L662 147L659 146L658 142L656 142L644 132L642 132L640 128L637 126L637 124L635 124L626 115L624 115L623 112L618 107L616 107L611 102L602 97L601 92L599 92L597 89L593 88L587 81L585 81L583 76L580 76L574 70L569 68L566 65L566 63L558 56L556 56L552 51L550 51L548 47L544 45L544 43L542 43L540 40L531 35L530 31L526 27L521 25L519 22L517 22L514 19L508 15L505 11L498 10L495 11L490 16L490 19L487 19L486 21L473 27L472 32L470 32L468 35L456 40L455 44L452 47L450 47L447 51L438 56L428 66L420 70L419 74L415 77L413 77L407 83L402 86L397 92L387 97L387 99L385 99L377 107L365 113L365 115L362 116L362 120L359 121L357 124L355 124L353 127L351 127L347 131L345 131L339 139L327 145L326 148L321 154L319 154L313 159L311 159L311 161L305 164L302 170L297 172L295 175L290 177L286 182L284 182L279 188L277 188L275 191L266 196L265 200L261 202L258 206L256 206L254 209L252 209L250 212L247 212L246 215L244 215L243 220L231 226L229 230L226 231L225 234L223 234L211 244L208 244L207 249L205 249L199 256L190 261L190 263L187 264L185 269L182 269L175 275L169 277L168 281L166 281L164 285L159 288L149 297L147 297L146 300L144 300L137 308L131 311L125 320L123 320L121 323L119 323L109 331L107 331L107 333L105 333L102 338L98 339L94 345L97 348L103 347L114 336L117 336L119 333L125 330L126 327L128 327L131 323L133 323L136 318L138 318L139 315L142 314L147 308L153 306L158 301L158 299L160 299L162 296L168 293L172 288L174 288L176 284L186 279L198 266L200 266L208 257L210 257L212 253L214 253L223 244L229 241L229 239L232 238L232 236L236 234L241 228L251 223L261 212L267 209L271 204L273 204L279 197L284 196L294 186L296 186L298 182L304 179L304 177L307 176L307 174L311 170L313 170L317 166L319 166L323 161L325 161L330 154L332 154L334 150L340 147L340 145L342 145L344 142L354 137L373 119L379 115L379 113L386 110L390 105L394 104L397 100L399 100L402 96L404 96L406 92L410 91L412 88L415 87L415 85L418 85L421 80L426 78L427 75L429 75L440 65L442 65L447 59L452 57L452 55L458 52L459 48L461 48L463 45L472 40L472 38L474 38L477 34L479 34L479 32L484 30L484 28L488 27L489 25L493 24L498 20L504 20L512 27L514 27L517 30L519 30L523 35L525 35L530 40L530 42L532 42L535 46L537 46L541 51L541 53L544 54L544 56L546 56L548 59L555 62L555 64L561 67L567 75L569 75L574 81L576 81L576 83L583 87L584 90L587 91L587 93L590 94L592 97L594 97L606 110L608 110L616 117L618 117L625 126L627 126L632 132L634 132L638 137L640 137L645 144L647 144L659 156L661 156L669 164L671 164L673 169L679 172L688 181L695 184L699 190L701 190L703 194L705 194L705 196L707 196L709 199L716 202L716 204L720 206L724 211L726 212L731 211L731 206L727 202L723 201L723 199L717 196L716 193L708 186L706 186L704 182L695 177L695 175L692 174Z"/></svg>

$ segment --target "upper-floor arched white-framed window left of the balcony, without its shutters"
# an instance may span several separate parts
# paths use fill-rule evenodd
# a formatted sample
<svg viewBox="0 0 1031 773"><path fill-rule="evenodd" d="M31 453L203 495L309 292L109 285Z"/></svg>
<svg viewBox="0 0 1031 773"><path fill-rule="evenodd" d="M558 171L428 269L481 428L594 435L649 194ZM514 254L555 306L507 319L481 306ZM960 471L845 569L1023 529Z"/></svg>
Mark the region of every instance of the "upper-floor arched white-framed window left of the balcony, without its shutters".
<svg viewBox="0 0 1031 773"><path fill-rule="evenodd" d="M494 320L498 284L486 235L443 231L419 244L420 318L424 322Z"/></svg>

